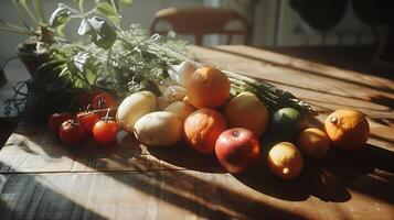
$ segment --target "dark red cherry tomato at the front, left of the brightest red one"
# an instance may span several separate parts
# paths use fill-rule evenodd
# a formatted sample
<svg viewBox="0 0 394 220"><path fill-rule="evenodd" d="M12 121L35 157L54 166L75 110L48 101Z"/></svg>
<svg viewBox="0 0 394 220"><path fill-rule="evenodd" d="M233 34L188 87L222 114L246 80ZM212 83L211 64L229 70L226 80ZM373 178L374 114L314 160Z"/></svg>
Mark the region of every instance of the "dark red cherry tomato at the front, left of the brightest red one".
<svg viewBox="0 0 394 220"><path fill-rule="evenodd" d="M58 136L64 143L75 144L85 138L85 131L77 120L67 120L58 129Z"/></svg>

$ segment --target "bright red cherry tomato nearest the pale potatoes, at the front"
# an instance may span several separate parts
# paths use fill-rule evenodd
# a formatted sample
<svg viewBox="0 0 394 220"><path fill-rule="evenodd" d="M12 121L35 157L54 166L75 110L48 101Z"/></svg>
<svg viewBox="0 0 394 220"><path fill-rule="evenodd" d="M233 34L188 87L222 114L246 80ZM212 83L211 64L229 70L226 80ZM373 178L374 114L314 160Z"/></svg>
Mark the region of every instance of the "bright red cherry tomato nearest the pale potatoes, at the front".
<svg viewBox="0 0 394 220"><path fill-rule="evenodd" d="M93 127L93 138L98 143L109 143L118 133L118 123L111 119L100 120Z"/></svg>

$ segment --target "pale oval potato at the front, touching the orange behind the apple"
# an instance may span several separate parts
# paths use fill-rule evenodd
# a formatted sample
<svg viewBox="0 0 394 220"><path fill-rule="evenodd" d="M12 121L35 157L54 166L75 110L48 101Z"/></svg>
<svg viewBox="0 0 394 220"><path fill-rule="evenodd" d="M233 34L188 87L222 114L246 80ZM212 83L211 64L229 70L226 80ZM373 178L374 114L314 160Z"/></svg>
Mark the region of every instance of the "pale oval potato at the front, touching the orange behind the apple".
<svg viewBox="0 0 394 220"><path fill-rule="evenodd" d="M169 146L182 140L182 121L174 113L156 111L136 122L134 134L143 144Z"/></svg>

